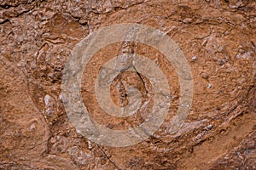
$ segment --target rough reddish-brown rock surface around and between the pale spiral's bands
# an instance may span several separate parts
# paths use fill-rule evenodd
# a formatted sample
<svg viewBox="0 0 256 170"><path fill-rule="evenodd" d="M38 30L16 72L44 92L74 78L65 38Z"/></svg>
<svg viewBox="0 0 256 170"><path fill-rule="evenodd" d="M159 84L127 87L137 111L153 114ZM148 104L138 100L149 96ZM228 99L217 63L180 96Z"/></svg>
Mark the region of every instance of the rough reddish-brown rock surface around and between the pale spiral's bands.
<svg viewBox="0 0 256 170"><path fill-rule="evenodd" d="M84 69L81 89L96 122L113 129L135 127L152 106L147 78L129 71L113 81L111 97L116 105L127 105L124 84L133 86L147 102L143 110L119 118L97 104L93 80L120 47L160 65L172 94L166 121L152 137L125 148L105 147L68 122L61 71L84 37L127 22L165 31L179 44L193 74L193 105L183 127L171 135L180 93L165 56L132 42L102 48ZM1 0L0 169L256 169L255 30L253 0Z"/></svg>

